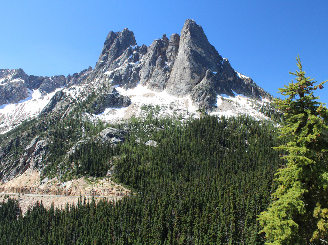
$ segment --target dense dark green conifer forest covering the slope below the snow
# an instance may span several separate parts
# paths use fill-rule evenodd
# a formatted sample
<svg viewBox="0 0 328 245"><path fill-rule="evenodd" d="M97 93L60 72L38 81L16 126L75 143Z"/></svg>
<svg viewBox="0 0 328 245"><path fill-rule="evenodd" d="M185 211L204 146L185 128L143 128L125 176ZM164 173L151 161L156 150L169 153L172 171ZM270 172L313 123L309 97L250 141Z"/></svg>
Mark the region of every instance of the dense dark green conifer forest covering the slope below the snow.
<svg viewBox="0 0 328 245"><path fill-rule="evenodd" d="M81 197L62 209L35 203L25 215L8 199L0 204L0 244L264 244L256 218L267 209L274 172L284 164L272 149L282 143L272 122L150 114L117 126L129 128L124 143L111 147L86 137L64 159L65 139L82 133L81 125L70 129L79 122L53 129L59 138L45 175L63 160L70 166L63 178L102 177L113 166L115 181L131 195L116 203ZM82 126L85 134L99 132Z"/></svg>

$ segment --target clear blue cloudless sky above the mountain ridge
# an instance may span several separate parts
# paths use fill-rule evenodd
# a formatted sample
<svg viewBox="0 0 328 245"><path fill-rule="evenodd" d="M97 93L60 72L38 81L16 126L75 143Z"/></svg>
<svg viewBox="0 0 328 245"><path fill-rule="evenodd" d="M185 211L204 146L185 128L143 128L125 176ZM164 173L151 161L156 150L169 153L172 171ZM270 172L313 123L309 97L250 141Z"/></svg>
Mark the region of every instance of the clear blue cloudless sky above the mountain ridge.
<svg viewBox="0 0 328 245"><path fill-rule="evenodd" d="M28 75L73 74L98 60L108 32L129 28L138 45L201 25L238 72L277 96L303 69L328 79L328 1L2 1L0 68ZM328 83L318 95L328 103Z"/></svg>

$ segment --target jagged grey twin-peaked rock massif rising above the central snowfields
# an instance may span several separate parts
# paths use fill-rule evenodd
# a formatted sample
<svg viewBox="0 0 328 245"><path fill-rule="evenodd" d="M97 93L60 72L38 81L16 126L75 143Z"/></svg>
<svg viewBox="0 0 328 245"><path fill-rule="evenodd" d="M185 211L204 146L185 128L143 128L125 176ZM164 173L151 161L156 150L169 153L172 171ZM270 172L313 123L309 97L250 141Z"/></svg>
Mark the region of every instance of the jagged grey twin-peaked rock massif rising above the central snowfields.
<svg viewBox="0 0 328 245"><path fill-rule="evenodd" d="M243 94L256 100L261 97L271 99L251 78L236 72L228 59L219 55L208 42L202 27L194 20L186 20L181 35L175 33L169 39L164 34L147 48L144 45L129 47L129 44L135 44L133 33L127 29L122 33L116 32L116 40L121 35L127 49L121 50L118 56L116 48L112 48L114 44L109 45L115 37L110 32L96 64L100 72L109 75L114 85L123 85L128 89L140 81L140 85L155 92L165 90L180 98L191 95L195 106L210 111L215 110L218 94ZM115 52L106 51L112 49Z"/></svg>

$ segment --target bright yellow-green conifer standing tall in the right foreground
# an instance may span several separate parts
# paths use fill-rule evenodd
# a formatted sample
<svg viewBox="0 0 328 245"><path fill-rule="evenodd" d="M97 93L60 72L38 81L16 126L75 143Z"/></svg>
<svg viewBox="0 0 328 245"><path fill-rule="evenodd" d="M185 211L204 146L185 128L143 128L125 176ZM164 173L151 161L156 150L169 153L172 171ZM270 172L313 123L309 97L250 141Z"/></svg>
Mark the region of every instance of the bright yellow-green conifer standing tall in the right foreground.
<svg viewBox="0 0 328 245"><path fill-rule="evenodd" d="M266 244L328 244L328 112L313 95L326 81L314 86L296 59L299 71L290 74L297 82L279 88L286 97L276 100L286 119L280 138L288 142L274 148L287 152L287 164L277 170L279 185L258 220Z"/></svg>

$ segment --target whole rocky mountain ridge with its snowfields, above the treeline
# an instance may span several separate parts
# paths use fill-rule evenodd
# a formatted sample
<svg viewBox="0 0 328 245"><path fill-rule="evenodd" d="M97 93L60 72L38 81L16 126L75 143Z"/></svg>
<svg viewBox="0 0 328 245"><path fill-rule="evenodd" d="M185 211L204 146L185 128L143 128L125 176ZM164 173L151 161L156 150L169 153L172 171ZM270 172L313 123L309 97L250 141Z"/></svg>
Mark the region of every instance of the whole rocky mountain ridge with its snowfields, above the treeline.
<svg viewBox="0 0 328 245"><path fill-rule="evenodd" d="M59 113L65 117L82 101L86 101L89 116L103 115L105 110L112 119L138 116L136 108L142 104L140 98L135 99L137 91L148 98L141 98L143 104L156 105L154 98L170 101L165 105L168 108L180 103L179 110L187 114L186 108L193 112L203 109L217 114L230 111L232 115L259 115L259 107L238 109L237 98L246 104L250 100L260 104L271 101L268 93L219 55L200 25L187 19L180 35L174 33L168 38L163 34L149 47L138 46L128 28L111 31L94 69L90 66L67 77L39 77L27 75L22 69L1 69L0 133L38 115ZM118 111L127 107L131 110Z"/></svg>

